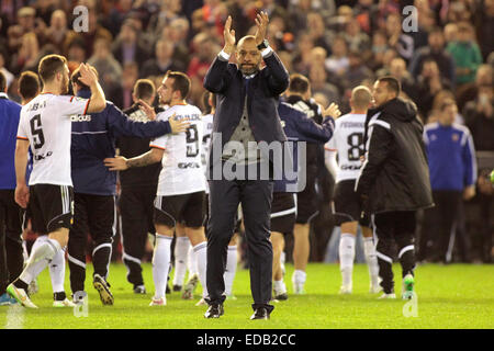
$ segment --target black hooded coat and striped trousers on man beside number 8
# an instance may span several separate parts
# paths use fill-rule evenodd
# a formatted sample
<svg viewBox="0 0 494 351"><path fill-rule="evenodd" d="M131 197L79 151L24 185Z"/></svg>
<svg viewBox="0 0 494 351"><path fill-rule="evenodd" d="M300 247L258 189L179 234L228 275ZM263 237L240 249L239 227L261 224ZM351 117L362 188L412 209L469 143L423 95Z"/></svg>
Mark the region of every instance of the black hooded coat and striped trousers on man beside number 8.
<svg viewBox="0 0 494 351"><path fill-rule="evenodd" d="M415 268L415 213L433 205L423 125L416 106L393 99L368 112L366 160L356 182L364 208L373 215L377 256L384 293L394 290L393 241L402 274Z"/></svg>

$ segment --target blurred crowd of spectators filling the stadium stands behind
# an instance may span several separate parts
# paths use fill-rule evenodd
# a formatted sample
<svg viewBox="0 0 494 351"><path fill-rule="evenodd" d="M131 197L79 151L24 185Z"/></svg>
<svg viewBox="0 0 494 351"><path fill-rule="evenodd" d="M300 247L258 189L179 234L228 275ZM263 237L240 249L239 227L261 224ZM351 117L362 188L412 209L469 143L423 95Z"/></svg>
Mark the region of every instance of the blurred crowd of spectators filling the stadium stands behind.
<svg viewBox="0 0 494 351"><path fill-rule="evenodd" d="M88 9L86 32L75 31L77 5ZM412 14L403 14L406 5L415 7ZM36 71L45 55L66 56L70 70L89 63L106 99L121 110L132 106L138 79L158 87L168 70L183 71L192 82L189 102L205 107L203 79L223 46L227 15L242 37L254 34L260 10L270 16L270 45L290 73L310 79L313 99L322 105L336 102L348 113L355 87L371 88L378 77L392 75L424 124L437 122L445 101L452 100L454 122L468 127L475 151L494 151L494 0L3 0L0 71L9 97L20 102L21 72ZM405 32L404 20L416 21L416 30ZM453 261L492 260L492 165L482 165L456 218L462 240ZM333 231L328 174L321 177L319 215L312 223L311 258L318 261ZM419 249L429 246L422 239ZM418 256L438 260L429 252Z"/></svg>

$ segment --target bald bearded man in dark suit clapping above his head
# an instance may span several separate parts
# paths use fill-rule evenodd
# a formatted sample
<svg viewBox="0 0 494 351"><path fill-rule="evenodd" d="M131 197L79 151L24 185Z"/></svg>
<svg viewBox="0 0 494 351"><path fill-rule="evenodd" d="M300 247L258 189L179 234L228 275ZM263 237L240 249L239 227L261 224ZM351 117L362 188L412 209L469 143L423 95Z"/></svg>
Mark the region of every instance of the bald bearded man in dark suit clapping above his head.
<svg viewBox="0 0 494 351"><path fill-rule="evenodd" d="M234 233L239 203L248 242L254 297L255 313L250 319L268 319L273 309L269 304L272 290L272 246L269 236L272 172L276 174L280 157L265 152L263 144L281 145L287 140L277 106L279 95L288 88L289 75L265 41L268 22L266 13L257 15L256 35L245 36L238 42L237 65L233 65L228 64L228 59L236 41L235 31L231 30L232 18L228 16L224 30L225 46L204 79L204 87L217 94L207 166L210 222L206 281L210 307L204 315L206 318L218 318L224 313L226 249ZM266 68L260 69L262 59ZM265 166L270 168L269 177L262 173ZM234 177L231 177L232 173L235 173Z"/></svg>

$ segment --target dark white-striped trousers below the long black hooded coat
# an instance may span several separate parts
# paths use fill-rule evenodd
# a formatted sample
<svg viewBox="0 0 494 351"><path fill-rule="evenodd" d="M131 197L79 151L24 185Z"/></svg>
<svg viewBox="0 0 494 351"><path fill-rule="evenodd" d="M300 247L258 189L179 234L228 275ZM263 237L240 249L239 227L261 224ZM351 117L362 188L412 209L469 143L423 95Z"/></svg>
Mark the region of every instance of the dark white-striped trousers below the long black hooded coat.
<svg viewBox="0 0 494 351"><path fill-rule="evenodd" d="M386 294L394 292L393 248L396 244L402 276L414 274L415 268L415 211L385 212L374 215L375 246L381 286Z"/></svg>

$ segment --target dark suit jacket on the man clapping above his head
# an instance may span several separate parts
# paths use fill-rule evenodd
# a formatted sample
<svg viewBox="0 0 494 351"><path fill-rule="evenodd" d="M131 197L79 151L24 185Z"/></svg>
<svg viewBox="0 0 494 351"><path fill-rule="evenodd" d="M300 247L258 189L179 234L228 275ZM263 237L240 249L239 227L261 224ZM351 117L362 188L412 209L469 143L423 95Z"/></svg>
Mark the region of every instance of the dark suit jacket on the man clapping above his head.
<svg viewBox="0 0 494 351"><path fill-rule="evenodd" d="M278 103L280 94L289 86L289 73L276 53L266 56L263 60L266 67L249 82L247 94L249 126L257 143L287 141L278 114ZM216 112L213 118L213 137L209 158L210 171L214 165L221 163L222 152L217 152L217 147L221 145L223 150L240 122L247 93L244 80L237 66L228 64L221 56L214 59L204 78L204 88L216 93ZM215 133L221 133L221 144L217 137L215 138Z"/></svg>

